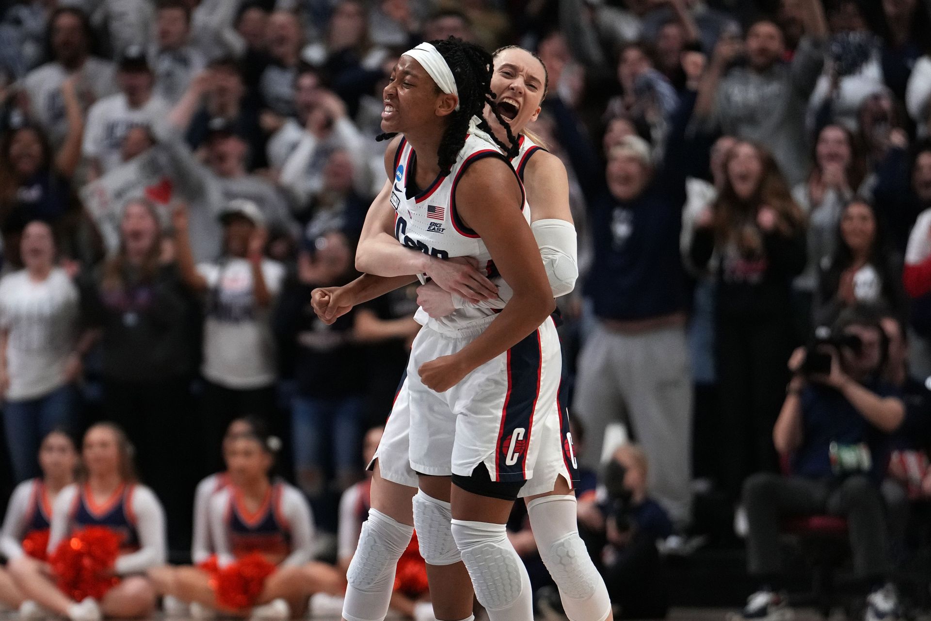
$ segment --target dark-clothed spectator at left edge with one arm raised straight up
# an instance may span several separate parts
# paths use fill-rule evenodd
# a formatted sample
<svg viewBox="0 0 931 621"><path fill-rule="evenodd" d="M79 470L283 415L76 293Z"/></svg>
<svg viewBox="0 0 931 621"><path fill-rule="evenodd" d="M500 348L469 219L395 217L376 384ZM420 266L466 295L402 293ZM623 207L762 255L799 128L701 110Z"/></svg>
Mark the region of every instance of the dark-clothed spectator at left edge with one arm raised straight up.
<svg viewBox="0 0 931 621"><path fill-rule="evenodd" d="M96 231L70 183L80 159L83 131L74 82L62 84L71 122L57 153L34 125L10 129L0 140L0 236L11 265L21 265L19 238L32 220L52 226L64 257L91 263L100 256Z"/></svg>

